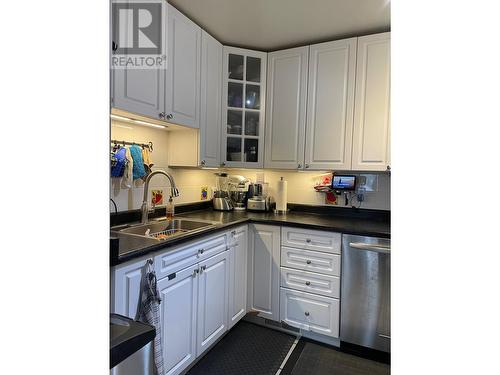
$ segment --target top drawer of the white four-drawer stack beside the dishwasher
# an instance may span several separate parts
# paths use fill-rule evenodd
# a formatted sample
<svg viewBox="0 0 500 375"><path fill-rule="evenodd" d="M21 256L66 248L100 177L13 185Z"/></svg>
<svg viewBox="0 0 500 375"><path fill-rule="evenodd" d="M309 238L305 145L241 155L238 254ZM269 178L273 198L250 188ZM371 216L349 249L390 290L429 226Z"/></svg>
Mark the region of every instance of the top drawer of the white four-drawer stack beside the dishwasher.
<svg viewBox="0 0 500 375"><path fill-rule="evenodd" d="M288 227L281 228L281 231L284 246L340 254L340 233Z"/></svg>

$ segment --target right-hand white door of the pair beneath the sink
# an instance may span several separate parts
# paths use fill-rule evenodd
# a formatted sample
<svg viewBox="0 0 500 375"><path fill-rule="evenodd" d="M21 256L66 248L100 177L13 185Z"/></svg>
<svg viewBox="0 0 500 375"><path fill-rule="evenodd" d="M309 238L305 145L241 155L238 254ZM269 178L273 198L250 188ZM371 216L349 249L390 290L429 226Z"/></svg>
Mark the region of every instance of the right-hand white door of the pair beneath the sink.
<svg viewBox="0 0 500 375"><path fill-rule="evenodd" d="M198 356L227 330L228 252L224 251L200 263L199 269Z"/></svg>

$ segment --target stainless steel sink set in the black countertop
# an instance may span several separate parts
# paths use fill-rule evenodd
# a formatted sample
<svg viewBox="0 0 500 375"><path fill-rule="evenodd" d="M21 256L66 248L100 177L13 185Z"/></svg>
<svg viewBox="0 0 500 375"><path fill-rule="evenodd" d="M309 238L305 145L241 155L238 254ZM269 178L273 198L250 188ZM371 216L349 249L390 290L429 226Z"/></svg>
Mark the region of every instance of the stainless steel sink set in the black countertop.
<svg viewBox="0 0 500 375"><path fill-rule="evenodd" d="M157 240L166 240L173 236L207 229L209 227L213 227L214 225L215 224L213 222L207 221L173 219L148 224L138 224L128 226L123 229L115 228L114 230L120 233L126 233L135 236L156 238Z"/></svg>

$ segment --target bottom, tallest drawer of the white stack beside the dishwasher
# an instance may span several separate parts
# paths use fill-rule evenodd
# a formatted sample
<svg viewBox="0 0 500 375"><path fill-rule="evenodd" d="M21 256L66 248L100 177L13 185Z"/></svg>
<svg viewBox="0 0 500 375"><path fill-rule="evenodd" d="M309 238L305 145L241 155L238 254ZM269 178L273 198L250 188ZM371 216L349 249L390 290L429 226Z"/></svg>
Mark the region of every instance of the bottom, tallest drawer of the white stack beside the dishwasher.
<svg viewBox="0 0 500 375"><path fill-rule="evenodd" d="M281 321L306 331L339 337L339 300L281 288Z"/></svg>

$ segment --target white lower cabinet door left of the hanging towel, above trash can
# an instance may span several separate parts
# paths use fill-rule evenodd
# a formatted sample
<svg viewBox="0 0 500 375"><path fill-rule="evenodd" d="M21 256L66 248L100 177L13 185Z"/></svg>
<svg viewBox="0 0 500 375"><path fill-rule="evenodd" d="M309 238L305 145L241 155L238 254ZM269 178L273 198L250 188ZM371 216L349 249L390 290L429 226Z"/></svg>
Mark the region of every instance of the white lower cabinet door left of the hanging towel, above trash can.
<svg viewBox="0 0 500 375"><path fill-rule="evenodd" d="M137 318L141 298L141 280L146 259L117 266L112 275L111 311L116 314Z"/></svg>

